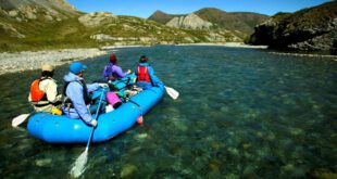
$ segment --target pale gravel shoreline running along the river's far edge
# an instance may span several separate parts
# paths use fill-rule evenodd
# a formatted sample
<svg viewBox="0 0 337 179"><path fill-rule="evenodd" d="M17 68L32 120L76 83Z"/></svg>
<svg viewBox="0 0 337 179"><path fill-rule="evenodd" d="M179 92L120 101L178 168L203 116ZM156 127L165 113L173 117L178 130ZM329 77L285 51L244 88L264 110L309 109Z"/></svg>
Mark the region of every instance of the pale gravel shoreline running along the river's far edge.
<svg viewBox="0 0 337 179"><path fill-rule="evenodd" d="M172 44L170 44L172 46ZM230 48L248 48L248 49L266 49L266 46L249 46L242 42L227 43L180 43L174 46L212 46L212 47L230 47ZM117 51L122 48L140 48L151 46L110 46L101 48L88 49L60 49L60 50L42 50L42 51L22 51L22 52L1 52L0 53L0 76L9 73L23 73L25 71L38 69L42 64L52 64L60 66L74 61L82 61L89 57L108 54L108 51ZM337 55L324 54L305 54L305 53L286 53L286 52L269 52L276 55L296 55L309 57L328 57L337 61Z"/></svg>

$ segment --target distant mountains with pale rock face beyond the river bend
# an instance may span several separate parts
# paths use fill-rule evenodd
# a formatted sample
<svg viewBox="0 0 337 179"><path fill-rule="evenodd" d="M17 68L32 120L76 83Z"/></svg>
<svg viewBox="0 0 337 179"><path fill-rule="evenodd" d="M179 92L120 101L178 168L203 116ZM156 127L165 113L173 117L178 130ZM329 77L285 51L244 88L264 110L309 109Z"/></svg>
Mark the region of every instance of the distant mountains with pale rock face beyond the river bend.
<svg viewBox="0 0 337 179"><path fill-rule="evenodd" d="M209 37L207 39L209 41L225 42L244 41L253 33L255 25L263 23L267 18L269 16L257 13L228 13L214 8L205 8L184 15L173 15L157 11L148 20L179 29L201 29L201 34L208 34Z"/></svg>

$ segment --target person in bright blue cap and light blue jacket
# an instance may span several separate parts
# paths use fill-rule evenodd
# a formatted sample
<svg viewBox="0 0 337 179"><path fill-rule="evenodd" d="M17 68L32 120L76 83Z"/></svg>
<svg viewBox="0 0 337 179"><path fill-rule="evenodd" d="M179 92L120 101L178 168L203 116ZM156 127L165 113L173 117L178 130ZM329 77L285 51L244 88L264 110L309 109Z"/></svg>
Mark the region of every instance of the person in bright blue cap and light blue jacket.
<svg viewBox="0 0 337 179"><path fill-rule="evenodd" d="M84 80L86 65L74 62L70 65L70 73L63 77L63 93L66 97L62 107L64 114L70 118L82 118L86 124L96 127L97 120L91 118L89 111L90 97L89 92L98 90L100 87L108 87L107 84L86 85Z"/></svg>

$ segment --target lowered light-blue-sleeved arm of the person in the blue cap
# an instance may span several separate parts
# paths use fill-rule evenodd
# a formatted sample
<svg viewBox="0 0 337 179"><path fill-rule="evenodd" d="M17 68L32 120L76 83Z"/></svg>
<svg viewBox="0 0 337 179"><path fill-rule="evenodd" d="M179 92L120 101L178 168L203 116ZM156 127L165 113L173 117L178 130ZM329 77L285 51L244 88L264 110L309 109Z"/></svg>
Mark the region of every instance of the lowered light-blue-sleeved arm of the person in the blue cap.
<svg viewBox="0 0 337 179"><path fill-rule="evenodd" d="M71 82L66 89L66 95L72 100L74 108L76 110L80 118L85 123L90 124L92 118L84 101L83 86L78 82Z"/></svg>

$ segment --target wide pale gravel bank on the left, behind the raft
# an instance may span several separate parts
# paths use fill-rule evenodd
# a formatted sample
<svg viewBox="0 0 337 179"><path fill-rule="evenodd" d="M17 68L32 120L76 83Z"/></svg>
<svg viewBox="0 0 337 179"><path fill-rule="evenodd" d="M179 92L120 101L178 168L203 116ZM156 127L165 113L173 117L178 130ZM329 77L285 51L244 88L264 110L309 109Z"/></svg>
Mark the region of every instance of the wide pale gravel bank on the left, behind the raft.
<svg viewBox="0 0 337 179"><path fill-rule="evenodd" d="M107 54L99 49L66 49L37 52L4 52L0 53L0 75L40 68L42 64L54 66Z"/></svg>

